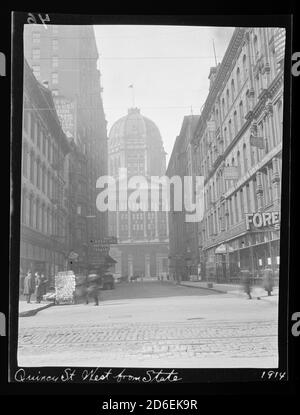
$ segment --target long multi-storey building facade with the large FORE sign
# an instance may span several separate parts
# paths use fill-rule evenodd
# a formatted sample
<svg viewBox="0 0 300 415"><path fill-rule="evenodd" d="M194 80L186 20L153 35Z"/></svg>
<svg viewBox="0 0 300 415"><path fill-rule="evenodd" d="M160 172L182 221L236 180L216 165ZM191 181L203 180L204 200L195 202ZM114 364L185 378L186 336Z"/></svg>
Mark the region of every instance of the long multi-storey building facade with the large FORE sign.
<svg viewBox="0 0 300 415"><path fill-rule="evenodd" d="M237 28L212 68L194 138L204 176L198 224L202 277L234 281L240 270L278 275L284 29Z"/></svg>

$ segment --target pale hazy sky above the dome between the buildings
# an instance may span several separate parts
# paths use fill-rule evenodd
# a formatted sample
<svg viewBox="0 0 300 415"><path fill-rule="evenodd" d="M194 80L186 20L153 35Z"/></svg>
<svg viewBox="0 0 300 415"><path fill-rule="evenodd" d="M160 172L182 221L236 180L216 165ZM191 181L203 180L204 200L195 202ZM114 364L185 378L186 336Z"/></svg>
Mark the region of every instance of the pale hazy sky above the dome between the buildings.
<svg viewBox="0 0 300 415"><path fill-rule="evenodd" d="M108 131L134 105L158 126L168 161L183 117L200 114L207 97L213 44L221 62L234 28L101 25L94 31Z"/></svg>

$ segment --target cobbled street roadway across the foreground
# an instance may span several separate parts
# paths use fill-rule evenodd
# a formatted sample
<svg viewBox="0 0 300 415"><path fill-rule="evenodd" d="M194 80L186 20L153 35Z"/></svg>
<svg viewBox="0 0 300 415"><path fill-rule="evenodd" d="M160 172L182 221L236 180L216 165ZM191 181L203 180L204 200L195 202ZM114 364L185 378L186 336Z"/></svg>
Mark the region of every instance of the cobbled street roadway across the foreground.
<svg viewBox="0 0 300 415"><path fill-rule="evenodd" d="M118 285L99 307L20 318L20 366L276 367L277 296L160 282Z"/></svg>

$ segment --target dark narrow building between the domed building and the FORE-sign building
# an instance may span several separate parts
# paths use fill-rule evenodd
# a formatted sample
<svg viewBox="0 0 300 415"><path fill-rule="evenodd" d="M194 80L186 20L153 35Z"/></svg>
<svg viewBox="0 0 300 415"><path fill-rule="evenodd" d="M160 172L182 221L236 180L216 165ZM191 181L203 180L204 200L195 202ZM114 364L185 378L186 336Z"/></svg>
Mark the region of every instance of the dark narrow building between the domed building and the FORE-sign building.
<svg viewBox="0 0 300 415"><path fill-rule="evenodd" d="M199 115L184 117L181 131L176 138L166 175L171 179L179 176L195 176L195 161L191 140ZM198 224L185 220L186 211L175 211L171 204L169 212L169 267L176 281L187 280L189 275L198 275Z"/></svg>

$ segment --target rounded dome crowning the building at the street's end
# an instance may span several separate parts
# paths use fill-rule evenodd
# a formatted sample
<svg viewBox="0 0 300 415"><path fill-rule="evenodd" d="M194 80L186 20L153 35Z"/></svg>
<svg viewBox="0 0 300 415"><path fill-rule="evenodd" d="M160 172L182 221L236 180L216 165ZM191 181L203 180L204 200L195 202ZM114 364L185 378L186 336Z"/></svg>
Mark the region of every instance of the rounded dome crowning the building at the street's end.
<svg viewBox="0 0 300 415"><path fill-rule="evenodd" d="M121 144L128 139L139 139L147 146L163 146L156 124L141 115L139 108L130 108L128 114L116 121L109 132L109 146Z"/></svg>

